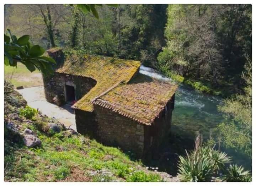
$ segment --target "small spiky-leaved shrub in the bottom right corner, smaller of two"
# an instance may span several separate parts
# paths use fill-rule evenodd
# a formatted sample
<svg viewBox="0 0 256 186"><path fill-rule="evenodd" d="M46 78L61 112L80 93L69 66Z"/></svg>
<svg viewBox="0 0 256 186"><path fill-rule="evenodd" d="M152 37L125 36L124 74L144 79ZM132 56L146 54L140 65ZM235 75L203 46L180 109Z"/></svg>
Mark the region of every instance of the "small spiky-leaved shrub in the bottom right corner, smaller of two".
<svg viewBox="0 0 256 186"><path fill-rule="evenodd" d="M229 165L229 168L224 176L224 180L228 182L250 182L252 177L249 171L244 171L242 166Z"/></svg>

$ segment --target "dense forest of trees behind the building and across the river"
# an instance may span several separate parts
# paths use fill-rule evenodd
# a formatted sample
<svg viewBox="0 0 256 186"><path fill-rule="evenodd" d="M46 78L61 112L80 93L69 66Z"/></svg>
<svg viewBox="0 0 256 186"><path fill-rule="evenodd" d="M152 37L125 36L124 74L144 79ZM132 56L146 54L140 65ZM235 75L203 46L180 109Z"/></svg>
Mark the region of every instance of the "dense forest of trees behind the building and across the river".
<svg viewBox="0 0 256 186"><path fill-rule="evenodd" d="M43 48L140 60L203 92L242 93L251 58L251 5L6 5L5 28Z"/></svg>

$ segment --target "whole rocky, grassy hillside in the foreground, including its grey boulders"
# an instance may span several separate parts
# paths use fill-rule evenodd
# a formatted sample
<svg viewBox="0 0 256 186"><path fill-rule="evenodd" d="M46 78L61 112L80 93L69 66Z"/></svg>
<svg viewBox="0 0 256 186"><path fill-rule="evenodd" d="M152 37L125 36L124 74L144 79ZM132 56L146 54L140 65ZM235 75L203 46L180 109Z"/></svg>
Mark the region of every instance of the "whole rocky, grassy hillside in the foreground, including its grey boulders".
<svg viewBox="0 0 256 186"><path fill-rule="evenodd" d="M4 99L5 181L177 181L29 108L11 84Z"/></svg>

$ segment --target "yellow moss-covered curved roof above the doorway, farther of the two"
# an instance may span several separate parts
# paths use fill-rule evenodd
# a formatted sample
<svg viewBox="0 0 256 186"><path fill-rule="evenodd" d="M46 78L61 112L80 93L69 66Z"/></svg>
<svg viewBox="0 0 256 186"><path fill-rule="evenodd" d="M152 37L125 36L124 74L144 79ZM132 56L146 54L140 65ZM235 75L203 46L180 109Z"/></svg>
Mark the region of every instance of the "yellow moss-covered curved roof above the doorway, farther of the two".
<svg viewBox="0 0 256 186"><path fill-rule="evenodd" d="M119 83L127 83L138 71L139 61L115 59L93 55L70 55L55 71L69 75L90 77L97 81L87 94L73 105L73 108L93 111L92 101Z"/></svg>

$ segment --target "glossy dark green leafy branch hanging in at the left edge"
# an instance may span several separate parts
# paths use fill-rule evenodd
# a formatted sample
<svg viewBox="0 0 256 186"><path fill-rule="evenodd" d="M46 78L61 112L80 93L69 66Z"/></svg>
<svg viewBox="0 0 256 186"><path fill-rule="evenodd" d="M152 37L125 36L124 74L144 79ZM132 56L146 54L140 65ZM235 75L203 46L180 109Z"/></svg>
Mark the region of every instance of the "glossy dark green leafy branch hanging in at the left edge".
<svg viewBox="0 0 256 186"><path fill-rule="evenodd" d="M45 50L39 45L31 45L29 35L23 35L17 39L9 29L7 31L10 37L4 34L4 64L6 66L17 67L17 62L21 62L31 72L36 69L43 73L53 72L52 64L56 63L55 60L42 56Z"/></svg>

